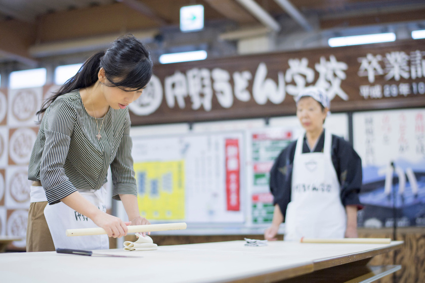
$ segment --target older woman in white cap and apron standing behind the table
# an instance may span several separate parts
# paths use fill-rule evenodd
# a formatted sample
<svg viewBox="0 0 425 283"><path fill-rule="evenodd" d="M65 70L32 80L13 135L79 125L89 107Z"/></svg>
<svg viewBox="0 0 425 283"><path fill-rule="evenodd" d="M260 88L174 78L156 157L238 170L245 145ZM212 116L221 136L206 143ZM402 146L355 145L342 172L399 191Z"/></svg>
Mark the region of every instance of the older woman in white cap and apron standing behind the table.
<svg viewBox="0 0 425 283"><path fill-rule="evenodd" d="M285 241L357 237L361 159L346 140L323 128L328 111L326 93L317 87L296 98L305 135L288 145L271 169L275 209L264 232L267 240L276 240L283 221Z"/></svg>

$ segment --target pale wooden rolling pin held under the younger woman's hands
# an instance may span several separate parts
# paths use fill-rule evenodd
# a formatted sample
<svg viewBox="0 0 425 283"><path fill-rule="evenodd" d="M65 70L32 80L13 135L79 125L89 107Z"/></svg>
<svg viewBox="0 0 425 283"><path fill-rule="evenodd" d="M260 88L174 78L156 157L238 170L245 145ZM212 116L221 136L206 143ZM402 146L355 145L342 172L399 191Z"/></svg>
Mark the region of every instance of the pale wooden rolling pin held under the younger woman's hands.
<svg viewBox="0 0 425 283"><path fill-rule="evenodd" d="M165 231L165 230L183 230L186 229L187 225L185 222L180 223L163 223L163 224L146 224L146 225L130 225L129 233L139 232L153 232L153 231ZM102 235L107 234L104 228L80 228L80 229L67 229L67 236L87 236L87 235Z"/></svg>

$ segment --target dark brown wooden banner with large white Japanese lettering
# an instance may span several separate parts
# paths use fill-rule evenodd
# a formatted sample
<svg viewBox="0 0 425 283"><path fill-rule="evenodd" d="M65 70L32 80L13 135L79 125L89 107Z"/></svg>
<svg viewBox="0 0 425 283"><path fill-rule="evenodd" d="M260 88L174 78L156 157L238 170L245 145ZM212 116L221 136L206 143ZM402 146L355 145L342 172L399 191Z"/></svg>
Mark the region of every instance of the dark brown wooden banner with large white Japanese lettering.
<svg viewBox="0 0 425 283"><path fill-rule="evenodd" d="M425 40L156 65L133 125L295 114L304 87L332 112L425 106Z"/></svg>

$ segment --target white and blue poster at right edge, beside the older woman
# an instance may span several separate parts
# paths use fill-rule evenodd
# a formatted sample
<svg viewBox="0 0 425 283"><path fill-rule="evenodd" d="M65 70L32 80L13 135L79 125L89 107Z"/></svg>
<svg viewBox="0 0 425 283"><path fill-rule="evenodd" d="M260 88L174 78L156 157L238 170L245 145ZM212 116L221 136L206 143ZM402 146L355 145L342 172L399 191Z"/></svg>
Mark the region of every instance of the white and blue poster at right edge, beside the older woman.
<svg viewBox="0 0 425 283"><path fill-rule="evenodd" d="M354 113L353 131L363 166L359 225L425 226L425 110Z"/></svg>

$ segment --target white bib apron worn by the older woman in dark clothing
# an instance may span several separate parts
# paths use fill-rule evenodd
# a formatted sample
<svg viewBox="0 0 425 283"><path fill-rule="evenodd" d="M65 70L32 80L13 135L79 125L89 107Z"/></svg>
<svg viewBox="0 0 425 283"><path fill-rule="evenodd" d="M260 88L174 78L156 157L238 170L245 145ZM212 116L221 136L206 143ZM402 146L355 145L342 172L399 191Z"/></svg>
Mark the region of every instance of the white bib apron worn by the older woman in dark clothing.
<svg viewBox="0 0 425 283"><path fill-rule="evenodd" d="M347 216L331 159L332 136L325 131L323 153L303 153L304 135L296 143L291 201L286 209L285 240L344 238Z"/></svg>

